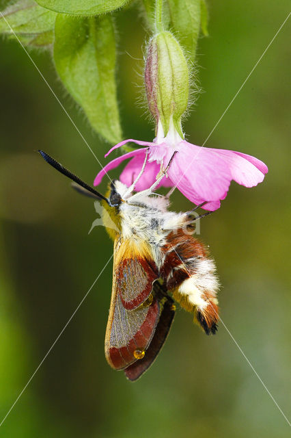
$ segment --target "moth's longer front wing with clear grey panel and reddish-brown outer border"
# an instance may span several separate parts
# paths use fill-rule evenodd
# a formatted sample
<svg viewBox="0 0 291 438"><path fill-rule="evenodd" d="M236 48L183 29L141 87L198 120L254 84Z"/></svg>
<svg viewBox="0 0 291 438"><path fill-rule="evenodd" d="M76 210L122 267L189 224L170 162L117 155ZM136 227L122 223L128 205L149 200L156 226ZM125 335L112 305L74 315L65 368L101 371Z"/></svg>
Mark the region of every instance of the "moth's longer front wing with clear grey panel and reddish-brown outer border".
<svg viewBox="0 0 291 438"><path fill-rule="evenodd" d="M141 302L141 305L133 310L124 307L120 283L117 282L117 276L122 274L119 270L119 257L116 257L118 250L120 250L120 242L115 241L115 248L111 305L105 337L105 356L112 368L122 370L137 361L138 352L144 352L148 348L158 324L160 306L158 300L153 298L149 305L146 303L143 305ZM135 295L140 296L141 285L139 282L134 283L133 279L128 278L128 282L124 281L122 284L125 294L127 294L126 284L128 284L133 299L135 299Z"/></svg>

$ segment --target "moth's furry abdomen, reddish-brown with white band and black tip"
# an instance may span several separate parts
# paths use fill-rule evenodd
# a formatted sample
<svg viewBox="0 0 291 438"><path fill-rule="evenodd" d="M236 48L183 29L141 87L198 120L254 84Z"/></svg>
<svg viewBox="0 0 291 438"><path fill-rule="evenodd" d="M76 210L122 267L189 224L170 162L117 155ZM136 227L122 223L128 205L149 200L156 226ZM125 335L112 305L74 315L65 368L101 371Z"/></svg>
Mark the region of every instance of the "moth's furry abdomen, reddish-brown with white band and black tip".
<svg viewBox="0 0 291 438"><path fill-rule="evenodd" d="M165 259L161 276L176 301L193 313L205 333L217 331L219 283L214 262L208 258L203 244L182 230L171 232L163 247Z"/></svg>

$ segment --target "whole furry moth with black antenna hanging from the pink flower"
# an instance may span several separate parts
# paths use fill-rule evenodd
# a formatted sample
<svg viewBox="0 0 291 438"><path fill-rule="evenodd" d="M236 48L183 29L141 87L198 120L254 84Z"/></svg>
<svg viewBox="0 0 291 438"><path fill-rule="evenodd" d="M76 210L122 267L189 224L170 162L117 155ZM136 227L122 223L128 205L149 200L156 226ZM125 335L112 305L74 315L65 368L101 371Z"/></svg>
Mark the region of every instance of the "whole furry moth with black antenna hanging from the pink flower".
<svg viewBox="0 0 291 438"><path fill-rule="evenodd" d="M145 372L161 350L174 320L176 305L193 314L207 334L217 331L219 282L214 261L191 233L194 211L169 211L169 196L154 190L167 168L148 190L134 192L114 180L108 196L84 183L52 157L39 151L55 169L74 181L74 188L92 196L104 207L105 227L114 242L113 287L105 335L105 357L115 370L124 370L130 381Z"/></svg>

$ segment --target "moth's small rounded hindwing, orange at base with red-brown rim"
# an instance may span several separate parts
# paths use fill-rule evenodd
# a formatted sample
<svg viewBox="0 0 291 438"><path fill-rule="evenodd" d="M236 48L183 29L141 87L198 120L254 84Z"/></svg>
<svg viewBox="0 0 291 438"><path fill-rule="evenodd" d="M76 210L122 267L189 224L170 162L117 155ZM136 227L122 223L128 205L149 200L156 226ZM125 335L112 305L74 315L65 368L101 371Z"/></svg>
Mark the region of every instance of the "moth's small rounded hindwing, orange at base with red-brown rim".
<svg viewBox="0 0 291 438"><path fill-rule="evenodd" d="M125 309L139 307L152 292L158 279L154 261L145 244L135 246L129 240L115 245L115 282Z"/></svg>

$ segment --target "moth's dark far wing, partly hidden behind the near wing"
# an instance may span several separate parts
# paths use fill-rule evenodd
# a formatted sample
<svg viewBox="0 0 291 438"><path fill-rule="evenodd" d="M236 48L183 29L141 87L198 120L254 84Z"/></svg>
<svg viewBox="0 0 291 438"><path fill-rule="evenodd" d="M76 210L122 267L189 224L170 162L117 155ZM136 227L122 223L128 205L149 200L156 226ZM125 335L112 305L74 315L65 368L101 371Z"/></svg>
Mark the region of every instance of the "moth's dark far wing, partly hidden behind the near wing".
<svg viewBox="0 0 291 438"><path fill-rule="evenodd" d="M146 350L146 354L143 359L136 361L132 365L129 365L124 373L126 377L130 381L136 381L137 378L141 376L152 363L156 359L158 352L160 352L165 340L167 339L167 335L169 333L169 329L171 329L171 324L174 320L175 315L175 307L173 306L172 300L166 300L163 305L163 310L161 312L160 319L158 320L158 325L156 326L156 331L152 338L152 342Z"/></svg>

